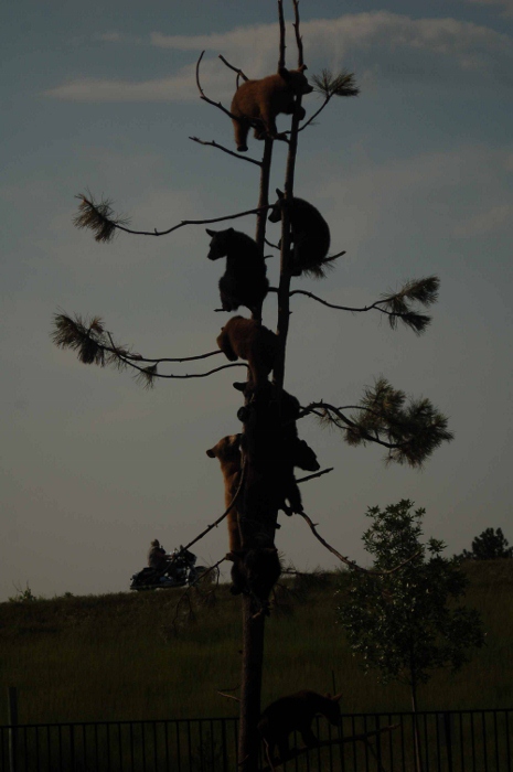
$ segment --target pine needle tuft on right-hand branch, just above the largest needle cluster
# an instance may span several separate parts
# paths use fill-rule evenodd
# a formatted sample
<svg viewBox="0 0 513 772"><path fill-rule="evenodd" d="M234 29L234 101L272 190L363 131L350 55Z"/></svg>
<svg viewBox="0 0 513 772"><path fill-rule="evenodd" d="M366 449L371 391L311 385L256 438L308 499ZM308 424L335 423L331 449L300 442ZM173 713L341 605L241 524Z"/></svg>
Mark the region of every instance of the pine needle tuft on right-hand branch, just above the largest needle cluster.
<svg viewBox="0 0 513 772"><path fill-rule="evenodd" d="M388 323L393 330L400 321L419 335L431 322L431 318L418 313L412 303L432 305L438 300L440 279L437 276L428 276L425 279L409 279L398 292L385 294L380 307L388 314Z"/></svg>

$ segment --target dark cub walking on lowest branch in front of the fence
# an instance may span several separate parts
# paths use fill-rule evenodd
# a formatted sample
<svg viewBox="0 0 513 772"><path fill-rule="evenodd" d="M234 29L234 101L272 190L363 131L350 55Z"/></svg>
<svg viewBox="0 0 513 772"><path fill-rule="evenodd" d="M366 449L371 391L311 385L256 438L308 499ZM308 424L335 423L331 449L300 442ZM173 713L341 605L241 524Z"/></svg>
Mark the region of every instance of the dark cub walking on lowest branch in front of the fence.
<svg viewBox="0 0 513 772"><path fill-rule="evenodd" d="M334 727L340 725L340 705L342 695L320 695L304 689L288 697L281 697L271 703L261 714L258 731L265 742L267 758L271 769L272 757L278 746L280 762L286 761L289 753L288 737L293 730L299 731L308 748L318 744L312 732L312 721L317 714L322 714Z"/></svg>

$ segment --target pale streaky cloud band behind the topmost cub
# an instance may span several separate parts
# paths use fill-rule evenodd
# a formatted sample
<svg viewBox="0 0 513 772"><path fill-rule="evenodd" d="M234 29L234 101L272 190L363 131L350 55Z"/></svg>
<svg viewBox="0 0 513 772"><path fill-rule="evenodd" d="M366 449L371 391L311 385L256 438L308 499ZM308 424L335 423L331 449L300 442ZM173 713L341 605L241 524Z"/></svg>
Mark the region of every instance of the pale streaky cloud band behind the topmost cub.
<svg viewBox="0 0 513 772"><path fill-rule="evenodd" d="M443 75L469 82L493 77L512 85L513 40L494 30L456 19L412 19L376 11L339 19L318 19L301 25L310 69L321 66L350 67L359 78L375 81ZM290 36L290 31L289 31ZM276 66L278 28L263 24L238 28L224 34L163 35L154 32L150 42L158 47L223 53L249 77L261 77ZM292 44L289 41L289 50ZM215 98L233 92L233 73L216 58L202 63L202 84ZM212 89L212 90L211 90ZM77 101L183 101L197 98L194 65L165 78L129 81L82 78L46 92L46 96Z"/></svg>

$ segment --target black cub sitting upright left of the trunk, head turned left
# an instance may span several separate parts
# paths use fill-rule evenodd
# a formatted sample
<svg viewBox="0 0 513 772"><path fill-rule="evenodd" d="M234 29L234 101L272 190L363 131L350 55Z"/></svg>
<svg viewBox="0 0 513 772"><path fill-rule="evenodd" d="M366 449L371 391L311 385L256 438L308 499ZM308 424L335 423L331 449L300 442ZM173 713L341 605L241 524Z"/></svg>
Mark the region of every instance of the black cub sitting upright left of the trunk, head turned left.
<svg viewBox="0 0 513 772"><path fill-rule="evenodd" d="M206 228L206 233L212 236L209 260L226 257L226 269L220 279L223 311L236 311L239 305L245 305L253 317L259 317L269 281L266 277L265 259L257 243L234 228Z"/></svg>

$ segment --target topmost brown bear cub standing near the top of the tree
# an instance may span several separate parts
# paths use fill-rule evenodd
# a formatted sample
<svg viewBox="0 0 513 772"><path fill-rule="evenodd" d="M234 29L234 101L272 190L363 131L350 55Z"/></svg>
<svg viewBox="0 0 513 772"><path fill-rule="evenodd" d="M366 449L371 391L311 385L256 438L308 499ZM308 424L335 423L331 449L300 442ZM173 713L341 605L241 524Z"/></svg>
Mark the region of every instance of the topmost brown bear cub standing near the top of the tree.
<svg viewBox="0 0 513 772"><path fill-rule="evenodd" d="M255 129L255 137L264 139L267 135L275 139L278 136L276 116L280 112L292 115L296 111L296 97L311 94L313 86L303 74L303 64L299 69L280 67L276 75L268 75L260 81L246 81L235 92L231 112L235 130L235 142L238 152L247 150L247 133L252 122L261 122L261 129ZM304 110L299 108L299 118L304 118Z"/></svg>

